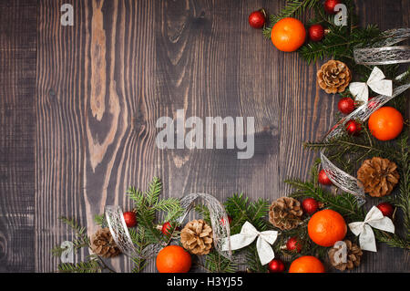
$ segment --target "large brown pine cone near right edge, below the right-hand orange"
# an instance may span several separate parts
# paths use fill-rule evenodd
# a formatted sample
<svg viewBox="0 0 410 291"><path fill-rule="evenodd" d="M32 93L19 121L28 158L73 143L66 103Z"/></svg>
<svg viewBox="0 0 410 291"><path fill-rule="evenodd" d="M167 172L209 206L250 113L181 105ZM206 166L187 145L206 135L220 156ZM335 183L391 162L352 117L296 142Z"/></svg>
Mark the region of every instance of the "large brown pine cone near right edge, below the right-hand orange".
<svg viewBox="0 0 410 291"><path fill-rule="evenodd" d="M399 178L395 162L379 157L364 161L357 171L357 179L362 183L364 192L372 197L390 194Z"/></svg>

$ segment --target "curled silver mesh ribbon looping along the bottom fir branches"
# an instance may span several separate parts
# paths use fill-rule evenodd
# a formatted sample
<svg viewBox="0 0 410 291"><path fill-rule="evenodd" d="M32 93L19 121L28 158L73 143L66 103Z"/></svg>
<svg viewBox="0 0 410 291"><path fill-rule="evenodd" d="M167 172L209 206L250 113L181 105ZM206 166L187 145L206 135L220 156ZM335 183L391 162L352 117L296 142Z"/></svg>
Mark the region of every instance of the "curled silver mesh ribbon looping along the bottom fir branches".
<svg viewBox="0 0 410 291"><path fill-rule="evenodd" d="M205 206L210 211L210 223L212 227L213 244L215 249L220 253L220 255L231 259L231 248L228 250L222 250L223 242L226 240L230 242L228 215L225 212L223 205L215 197L206 193L192 193L182 197L180 199L180 205L185 209L185 211L181 216L179 216L177 222L179 224L183 223L193 204L199 198L203 200ZM131 236L129 235L128 227L125 223L121 207L108 205L105 207L104 213L107 219L109 231L123 254L130 257L148 259L158 254L159 250L166 246L165 243L149 244L142 252L139 253L136 246L132 242Z"/></svg>

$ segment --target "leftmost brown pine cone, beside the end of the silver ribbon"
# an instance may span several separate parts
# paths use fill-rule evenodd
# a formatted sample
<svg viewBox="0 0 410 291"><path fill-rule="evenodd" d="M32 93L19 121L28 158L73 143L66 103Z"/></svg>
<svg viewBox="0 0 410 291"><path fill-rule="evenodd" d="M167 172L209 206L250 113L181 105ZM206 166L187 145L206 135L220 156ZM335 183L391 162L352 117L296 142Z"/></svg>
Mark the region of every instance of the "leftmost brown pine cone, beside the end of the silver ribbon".
<svg viewBox="0 0 410 291"><path fill-rule="evenodd" d="M94 254L105 258L114 257L121 253L108 227L101 228L97 230L96 234L91 235L90 247Z"/></svg>

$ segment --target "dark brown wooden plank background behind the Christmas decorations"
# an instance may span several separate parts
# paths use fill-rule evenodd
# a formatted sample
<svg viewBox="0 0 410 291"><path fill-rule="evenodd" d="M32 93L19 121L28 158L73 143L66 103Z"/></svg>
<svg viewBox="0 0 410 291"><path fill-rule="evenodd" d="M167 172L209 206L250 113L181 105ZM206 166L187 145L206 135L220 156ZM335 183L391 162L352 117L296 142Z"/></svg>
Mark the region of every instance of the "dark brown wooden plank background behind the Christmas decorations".
<svg viewBox="0 0 410 291"><path fill-rule="evenodd" d="M60 6L74 5L74 26ZM361 23L409 26L408 0L356 1ZM247 16L284 1L1 0L0 271L53 272L50 249L72 238L60 215L96 229L104 205L128 208L129 185L159 176L164 196L233 192L275 199L306 178L302 149L333 125L337 98ZM159 151L156 120L253 116L251 160L235 151ZM404 251L378 245L359 272L408 272ZM85 253L82 254L86 255ZM128 271L128 260L116 259ZM149 271L154 271L151 265Z"/></svg>

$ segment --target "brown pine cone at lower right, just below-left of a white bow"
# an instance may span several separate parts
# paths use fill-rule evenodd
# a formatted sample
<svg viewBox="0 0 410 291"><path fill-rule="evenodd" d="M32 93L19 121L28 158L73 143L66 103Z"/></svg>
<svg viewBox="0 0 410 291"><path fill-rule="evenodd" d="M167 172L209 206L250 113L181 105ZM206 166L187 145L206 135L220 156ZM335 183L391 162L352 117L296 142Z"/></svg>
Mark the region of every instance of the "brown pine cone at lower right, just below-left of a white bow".
<svg viewBox="0 0 410 291"><path fill-rule="evenodd" d="M360 265L360 258L363 255L362 249L357 244L352 244L349 240L343 241L347 247L346 262L342 263L342 251L339 251L340 246L333 247L329 250L329 260L331 264L338 270L344 271L345 269L352 270L354 267ZM338 252L338 253L337 253ZM336 254L337 253L337 254ZM336 262L336 258L338 258Z"/></svg>

